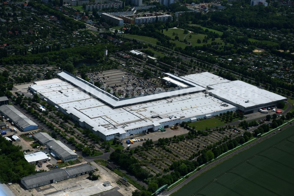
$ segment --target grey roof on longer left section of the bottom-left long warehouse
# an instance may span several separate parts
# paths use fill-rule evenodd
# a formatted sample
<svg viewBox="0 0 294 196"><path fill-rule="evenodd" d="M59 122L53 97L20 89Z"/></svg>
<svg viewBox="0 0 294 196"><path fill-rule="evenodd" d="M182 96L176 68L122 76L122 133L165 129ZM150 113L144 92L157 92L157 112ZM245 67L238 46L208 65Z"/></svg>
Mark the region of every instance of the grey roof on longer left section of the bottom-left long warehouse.
<svg viewBox="0 0 294 196"><path fill-rule="evenodd" d="M22 178L21 180L27 185L35 185L42 182L47 182L56 178L61 178L67 176L67 172L63 169L54 169L47 172L37 173L35 175L30 175Z"/></svg>

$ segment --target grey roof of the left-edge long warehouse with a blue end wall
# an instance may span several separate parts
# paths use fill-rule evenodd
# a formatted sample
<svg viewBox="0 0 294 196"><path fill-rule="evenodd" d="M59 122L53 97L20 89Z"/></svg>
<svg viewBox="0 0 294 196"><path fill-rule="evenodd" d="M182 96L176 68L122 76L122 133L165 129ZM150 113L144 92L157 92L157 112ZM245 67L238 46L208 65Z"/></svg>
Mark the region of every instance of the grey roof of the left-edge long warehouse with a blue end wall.
<svg viewBox="0 0 294 196"><path fill-rule="evenodd" d="M8 116L13 122L15 122L19 127L25 128L30 125L37 126L31 119L22 114L13 105L1 105L0 111Z"/></svg>

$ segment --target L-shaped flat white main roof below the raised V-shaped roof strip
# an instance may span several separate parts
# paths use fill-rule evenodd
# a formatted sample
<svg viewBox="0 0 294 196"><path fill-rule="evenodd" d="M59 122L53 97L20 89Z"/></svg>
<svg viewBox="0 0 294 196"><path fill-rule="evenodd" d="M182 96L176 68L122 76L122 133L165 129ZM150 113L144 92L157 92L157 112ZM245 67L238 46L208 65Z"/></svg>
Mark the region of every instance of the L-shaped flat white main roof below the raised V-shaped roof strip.
<svg viewBox="0 0 294 196"><path fill-rule="evenodd" d="M66 87L66 89L61 90L60 85ZM132 101L133 104L112 108L64 81L54 83L54 85L34 85L31 86L31 89L36 90L40 95L57 104L66 113L73 114L78 121L85 122L93 127L94 131L99 131L106 135L117 132L124 133L132 127L157 125L160 122L166 121L170 116L189 118L235 108L232 105L228 107L221 106L221 101L213 97L206 97L203 92L168 97L155 101L149 100L149 102L137 104L132 101L133 99L127 99L127 101ZM200 87L200 89L204 88ZM172 92L176 93L176 91ZM152 97L152 95L144 97ZM144 97L138 97L134 100ZM111 99L110 97L107 98ZM115 101L114 99L111 100ZM156 114L160 118L153 118Z"/></svg>

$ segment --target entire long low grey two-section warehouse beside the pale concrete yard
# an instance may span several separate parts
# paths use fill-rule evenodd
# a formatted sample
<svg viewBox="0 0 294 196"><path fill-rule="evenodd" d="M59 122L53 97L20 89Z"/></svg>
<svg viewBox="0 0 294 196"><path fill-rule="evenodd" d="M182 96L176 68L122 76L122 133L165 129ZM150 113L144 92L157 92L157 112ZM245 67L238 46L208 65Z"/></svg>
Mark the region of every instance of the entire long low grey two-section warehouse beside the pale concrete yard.
<svg viewBox="0 0 294 196"><path fill-rule="evenodd" d="M59 182L61 180L66 180L72 177L88 174L91 171L94 171L94 168L88 164L82 164L66 169L54 169L24 177L21 179L21 184L24 185L26 189L31 189L54 182Z"/></svg>

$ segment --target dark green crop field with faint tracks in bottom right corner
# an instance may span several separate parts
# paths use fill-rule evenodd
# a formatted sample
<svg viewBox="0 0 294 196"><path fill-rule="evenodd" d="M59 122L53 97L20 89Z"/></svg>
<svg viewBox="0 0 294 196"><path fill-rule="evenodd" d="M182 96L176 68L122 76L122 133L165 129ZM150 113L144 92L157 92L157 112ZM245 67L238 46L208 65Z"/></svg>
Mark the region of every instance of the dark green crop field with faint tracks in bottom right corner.
<svg viewBox="0 0 294 196"><path fill-rule="evenodd" d="M203 173L173 196L293 195L294 127Z"/></svg>

